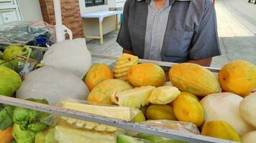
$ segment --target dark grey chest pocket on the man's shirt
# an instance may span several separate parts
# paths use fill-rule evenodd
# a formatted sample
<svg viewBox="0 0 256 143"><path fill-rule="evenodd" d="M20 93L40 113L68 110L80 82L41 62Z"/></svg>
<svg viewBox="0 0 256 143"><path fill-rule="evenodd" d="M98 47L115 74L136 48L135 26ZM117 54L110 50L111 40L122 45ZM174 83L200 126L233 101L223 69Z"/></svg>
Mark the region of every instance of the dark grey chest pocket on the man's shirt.
<svg viewBox="0 0 256 143"><path fill-rule="evenodd" d="M165 33L162 55L184 58L188 56L193 31L170 29Z"/></svg>

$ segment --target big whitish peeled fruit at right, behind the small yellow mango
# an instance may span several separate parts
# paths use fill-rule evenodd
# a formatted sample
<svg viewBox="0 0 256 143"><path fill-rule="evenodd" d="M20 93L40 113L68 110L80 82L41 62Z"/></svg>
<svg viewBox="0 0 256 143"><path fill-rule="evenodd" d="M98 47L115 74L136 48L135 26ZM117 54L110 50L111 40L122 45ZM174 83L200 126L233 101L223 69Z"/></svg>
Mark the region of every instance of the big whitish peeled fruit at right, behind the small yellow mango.
<svg viewBox="0 0 256 143"><path fill-rule="evenodd" d="M232 93L209 94L201 100L204 108L205 122L223 120L228 122L241 137L254 128L244 122L239 112L239 104L242 97Z"/></svg>

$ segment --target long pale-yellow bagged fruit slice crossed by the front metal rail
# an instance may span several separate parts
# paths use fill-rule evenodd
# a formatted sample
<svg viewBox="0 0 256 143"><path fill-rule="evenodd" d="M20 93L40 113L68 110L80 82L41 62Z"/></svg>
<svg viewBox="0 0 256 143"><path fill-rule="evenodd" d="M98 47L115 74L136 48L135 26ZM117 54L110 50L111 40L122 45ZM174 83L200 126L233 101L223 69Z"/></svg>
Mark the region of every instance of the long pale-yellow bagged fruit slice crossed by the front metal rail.
<svg viewBox="0 0 256 143"><path fill-rule="evenodd" d="M80 112L87 112L91 114L99 114L105 117L112 117L117 119L124 119L131 121L137 114L140 113L139 109L130 109L128 107L107 107L99 106L96 104L82 104L77 100L67 99L61 102L62 107L66 109L73 109ZM106 126L104 124L98 124L93 122L87 122L79 119L73 119L70 117L60 117L65 122L72 124L78 128L90 129L98 132L116 132L116 127Z"/></svg>

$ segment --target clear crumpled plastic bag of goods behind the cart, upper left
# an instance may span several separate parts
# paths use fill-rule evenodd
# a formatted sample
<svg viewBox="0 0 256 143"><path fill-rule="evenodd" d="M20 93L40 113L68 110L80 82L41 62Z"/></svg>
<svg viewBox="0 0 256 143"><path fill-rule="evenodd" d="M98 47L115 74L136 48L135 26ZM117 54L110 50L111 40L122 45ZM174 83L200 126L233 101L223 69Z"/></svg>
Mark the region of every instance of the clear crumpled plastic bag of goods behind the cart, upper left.
<svg viewBox="0 0 256 143"><path fill-rule="evenodd" d="M39 37L45 37L47 45L55 44L54 26L43 21L13 21L0 26L0 42L42 46Z"/></svg>

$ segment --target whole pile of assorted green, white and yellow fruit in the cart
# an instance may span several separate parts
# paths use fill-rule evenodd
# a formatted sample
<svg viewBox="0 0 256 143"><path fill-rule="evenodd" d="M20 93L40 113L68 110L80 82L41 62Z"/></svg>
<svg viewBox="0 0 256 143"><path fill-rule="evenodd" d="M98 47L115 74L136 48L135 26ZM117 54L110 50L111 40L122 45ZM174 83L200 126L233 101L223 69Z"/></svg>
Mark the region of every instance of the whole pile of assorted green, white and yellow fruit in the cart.
<svg viewBox="0 0 256 143"><path fill-rule="evenodd" d="M248 61L229 62L218 77L198 64L176 64L166 79L160 66L138 64L137 56L129 54L122 54L113 70L106 64L91 66L91 59L86 64L81 62L80 66L86 68L79 70L79 63L69 69L67 62L54 63L54 59L63 57L56 56L60 49L52 51L55 55L48 53L42 60L45 66L27 74L23 82L15 71L0 66L0 94L14 96L16 92L17 98L44 104L80 99L88 103L64 100L61 106L129 122L188 122L204 136L255 142L256 94L252 92L256 66ZM42 112L8 105L2 105L0 111L0 140L4 143L12 137L26 143L181 142L147 134L127 136L115 127L68 117L60 117L62 122L49 127L41 121L48 115Z"/></svg>

